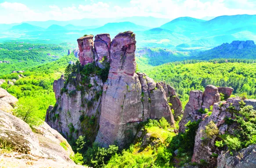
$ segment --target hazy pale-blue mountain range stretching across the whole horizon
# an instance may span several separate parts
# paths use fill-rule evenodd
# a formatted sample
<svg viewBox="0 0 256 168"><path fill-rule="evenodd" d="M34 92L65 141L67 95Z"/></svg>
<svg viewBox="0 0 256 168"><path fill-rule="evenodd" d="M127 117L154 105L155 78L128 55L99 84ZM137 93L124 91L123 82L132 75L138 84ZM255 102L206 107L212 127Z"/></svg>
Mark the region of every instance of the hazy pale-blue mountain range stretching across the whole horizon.
<svg viewBox="0 0 256 168"><path fill-rule="evenodd" d="M0 40L18 40L19 37L22 40L36 38L60 43L75 41L84 34L97 35L103 32L108 32L113 38L127 30L136 33L137 45L140 47L203 49L235 40L256 40L256 15L219 16L209 21L182 17L168 21L163 18L130 17L1 24Z"/></svg>

